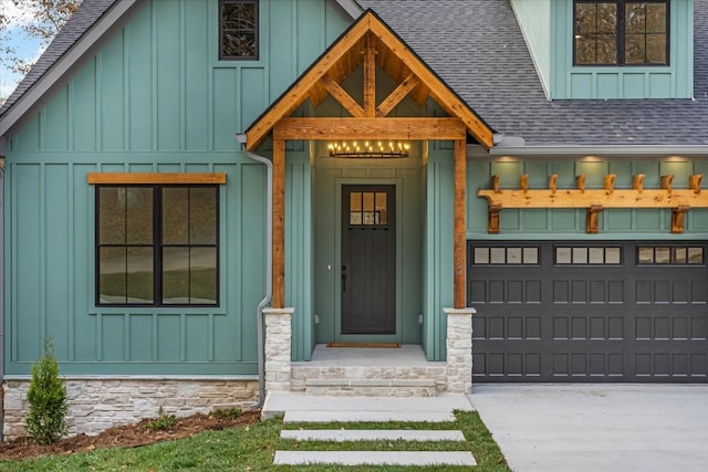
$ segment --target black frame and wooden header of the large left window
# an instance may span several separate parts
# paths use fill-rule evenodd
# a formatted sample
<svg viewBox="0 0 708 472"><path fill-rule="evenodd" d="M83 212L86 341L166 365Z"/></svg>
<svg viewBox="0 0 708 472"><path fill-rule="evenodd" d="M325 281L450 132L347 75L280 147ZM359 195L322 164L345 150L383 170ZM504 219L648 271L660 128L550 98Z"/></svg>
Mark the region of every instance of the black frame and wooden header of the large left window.
<svg viewBox="0 0 708 472"><path fill-rule="evenodd" d="M101 180L102 178L95 178L97 175L94 174L93 180ZM116 180L119 174L110 175L103 174L104 180ZM166 175L139 175L139 174L131 174L131 176L138 176L133 180L149 180L149 176L166 176ZM190 175L180 175L180 176L190 176ZM191 180L194 180L195 175L191 175ZM92 180L90 176L90 181ZM95 206L94 206L94 305L96 307L155 307L155 308L174 308L174 307L188 307L188 308L199 308L199 307L220 307L221 305L221 214L220 214L220 187L217 182L184 182L184 181L169 181L168 178L159 178L157 180L163 180L159 183L136 183L132 182L116 182L111 181L108 183L96 183L96 189L94 191ZM189 178L180 178L177 180L190 180ZM226 175L223 175L223 182L226 182ZM101 244L100 240L100 199L101 199L101 189L102 188L128 188L128 187L138 187L138 188L150 188L153 189L153 238L150 244ZM216 241L214 244L167 244L163 241L163 189L165 188L212 188L215 190L215 211L216 211ZM153 302L152 303L102 303L101 302L101 249L106 247L149 247L153 249ZM163 279L164 279L164 270L163 270L163 252L165 248L170 247L187 247L187 248L202 248L209 247L214 248L216 251L216 294L215 294L215 303L165 303L163 300Z"/></svg>

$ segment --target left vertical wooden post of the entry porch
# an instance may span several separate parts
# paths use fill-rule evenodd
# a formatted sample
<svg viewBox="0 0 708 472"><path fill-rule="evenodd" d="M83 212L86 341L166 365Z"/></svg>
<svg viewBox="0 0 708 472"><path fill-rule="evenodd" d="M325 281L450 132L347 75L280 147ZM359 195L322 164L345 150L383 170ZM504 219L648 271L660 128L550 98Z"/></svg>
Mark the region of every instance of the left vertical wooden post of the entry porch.
<svg viewBox="0 0 708 472"><path fill-rule="evenodd" d="M273 139L273 308L285 306L285 141Z"/></svg>

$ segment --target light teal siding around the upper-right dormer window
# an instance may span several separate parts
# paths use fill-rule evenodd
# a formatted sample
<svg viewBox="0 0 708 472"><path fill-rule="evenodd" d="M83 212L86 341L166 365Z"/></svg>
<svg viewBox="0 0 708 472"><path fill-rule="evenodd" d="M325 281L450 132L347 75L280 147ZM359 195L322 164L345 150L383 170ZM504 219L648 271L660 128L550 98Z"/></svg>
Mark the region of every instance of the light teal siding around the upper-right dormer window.
<svg viewBox="0 0 708 472"><path fill-rule="evenodd" d="M535 3L528 0L519 3ZM694 0L671 0L668 66L574 66L573 1L551 0L551 98L691 98L694 94ZM541 22L519 15L527 38L543 35ZM543 44L529 43L542 49ZM534 57L542 56L534 51Z"/></svg>

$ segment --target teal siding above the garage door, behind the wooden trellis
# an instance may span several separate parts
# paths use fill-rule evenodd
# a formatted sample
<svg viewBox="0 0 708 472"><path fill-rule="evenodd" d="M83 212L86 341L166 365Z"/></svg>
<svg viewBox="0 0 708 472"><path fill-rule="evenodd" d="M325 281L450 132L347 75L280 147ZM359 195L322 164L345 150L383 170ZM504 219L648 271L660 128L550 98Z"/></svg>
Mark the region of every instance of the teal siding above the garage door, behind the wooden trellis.
<svg viewBox="0 0 708 472"><path fill-rule="evenodd" d="M563 160L523 160L501 158L468 161L467 239L473 240L695 240L708 237L708 209L691 209L686 214L683 234L671 234L670 209L605 209L600 214L600 232L585 233L583 209L507 209L499 213L499 234L487 232L487 199L477 190L491 188L498 175L501 189L518 189L519 177L529 175L530 189L548 188L548 176L558 174L558 188L575 188L575 176L585 175L586 188L604 188L604 176L615 174L615 188L631 189L632 176L644 174L644 188L660 188L662 176L674 175L674 188L688 188L688 177L708 170L708 160L676 158L634 160L572 158Z"/></svg>

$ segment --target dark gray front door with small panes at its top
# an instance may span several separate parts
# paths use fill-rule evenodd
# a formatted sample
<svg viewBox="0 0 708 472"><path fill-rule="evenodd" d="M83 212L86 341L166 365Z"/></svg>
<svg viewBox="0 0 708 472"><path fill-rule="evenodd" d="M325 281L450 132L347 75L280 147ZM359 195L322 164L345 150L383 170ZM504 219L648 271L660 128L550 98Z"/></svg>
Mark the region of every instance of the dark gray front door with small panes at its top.
<svg viewBox="0 0 708 472"><path fill-rule="evenodd" d="M396 333L395 195L342 187L342 334Z"/></svg>

